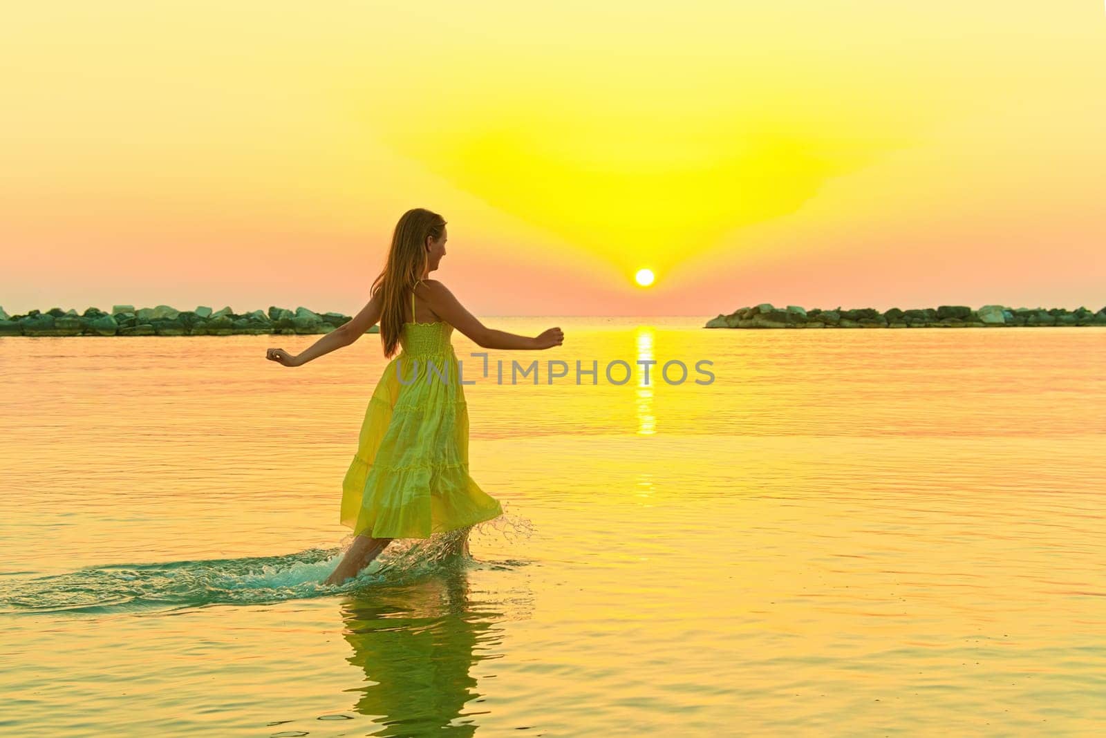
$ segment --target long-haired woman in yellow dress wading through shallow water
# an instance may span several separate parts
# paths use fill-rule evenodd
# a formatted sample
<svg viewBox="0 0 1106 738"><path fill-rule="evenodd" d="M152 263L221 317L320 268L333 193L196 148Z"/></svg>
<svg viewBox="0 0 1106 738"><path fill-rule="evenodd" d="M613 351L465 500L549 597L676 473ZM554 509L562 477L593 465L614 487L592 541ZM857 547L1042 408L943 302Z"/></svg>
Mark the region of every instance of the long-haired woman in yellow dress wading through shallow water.
<svg viewBox="0 0 1106 738"><path fill-rule="evenodd" d="M365 410L357 453L342 484L342 525L354 541L324 584L341 584L380 555L395 538L429 538L502 514L498 500L469 476L469 415L449 342L457 328L481 348L546 349L564 335L550 328L533 338L486 327L436 280L446 255L446 221L415 208L392 234L372 299L353 319L302 354L271 348L265 357L303 366L353 344L380 324L384 356L403 351L384 369Z"/></svg>

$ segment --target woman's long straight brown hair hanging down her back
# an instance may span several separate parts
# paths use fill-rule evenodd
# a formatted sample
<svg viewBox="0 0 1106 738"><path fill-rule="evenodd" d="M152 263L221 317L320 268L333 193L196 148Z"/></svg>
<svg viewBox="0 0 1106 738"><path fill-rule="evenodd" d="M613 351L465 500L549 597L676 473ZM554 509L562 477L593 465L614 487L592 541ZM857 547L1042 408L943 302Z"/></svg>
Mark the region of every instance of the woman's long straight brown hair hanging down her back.
<svg viewBox="0 0 1106 738"><path fill-rule="evenodd" d="M380 344L384 356L390 358L396 352L399 335L404 328L405 305L411 302L411 289L422 278L427 267L426 239L441 238L446 220L425 208L413 208L405 212L396 230L392 233L392 247L384 270L373 281L372 294L380 292L384 301L380 308ZM411 316L411 320L415 316Z"/></svg>

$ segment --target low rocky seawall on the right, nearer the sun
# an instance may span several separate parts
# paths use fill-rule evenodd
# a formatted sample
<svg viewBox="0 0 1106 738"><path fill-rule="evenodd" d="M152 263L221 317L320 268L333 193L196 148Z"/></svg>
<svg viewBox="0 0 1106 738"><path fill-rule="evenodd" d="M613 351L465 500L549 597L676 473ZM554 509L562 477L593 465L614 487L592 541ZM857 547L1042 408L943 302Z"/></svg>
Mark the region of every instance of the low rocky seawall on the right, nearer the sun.
<svg viewBox="0 0 1106 738"><path fill-rule="evenodd" d="M707 321L706 328L992 328L1000 326L1106 326L1106 307L1097 313L1081 307L1066 310L1010 308L984 305L978 310L962 305L900 310L897 307L880 313L870 307L843 310L797 305L773 307L762 303L755 307L739 307L729 315L719 314Z"/></svg>

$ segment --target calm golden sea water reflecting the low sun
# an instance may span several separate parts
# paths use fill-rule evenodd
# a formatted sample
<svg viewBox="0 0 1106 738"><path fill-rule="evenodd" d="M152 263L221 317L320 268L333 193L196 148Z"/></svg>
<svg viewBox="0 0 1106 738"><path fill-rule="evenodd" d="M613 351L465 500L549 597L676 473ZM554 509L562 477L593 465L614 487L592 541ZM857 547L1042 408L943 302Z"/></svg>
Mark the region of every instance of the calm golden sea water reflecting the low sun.
<svg viewBox="0 0 1106 738"><path fill-rule="evenodd" d="M486 323L504 515L341 587L378 336L0 338L0 734L1106 729L1106 329Z"/></svg>

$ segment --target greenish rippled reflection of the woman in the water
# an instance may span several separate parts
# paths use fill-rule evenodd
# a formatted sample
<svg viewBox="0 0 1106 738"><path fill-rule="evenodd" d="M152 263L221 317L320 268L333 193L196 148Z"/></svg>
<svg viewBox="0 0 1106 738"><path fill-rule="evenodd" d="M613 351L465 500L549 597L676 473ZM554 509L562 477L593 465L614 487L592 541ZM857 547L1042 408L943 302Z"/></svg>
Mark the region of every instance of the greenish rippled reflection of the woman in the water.
<svg viewBox="0 0 1106 738"><path fill-rule="evenodd" d="M386 726L374 736L471 736L450 725L479 697L470 668L492 651L492 622L468 605L468 574L446 569L408 584L384 584L342 605L349 663L365 671L355 709ZM471 720L471 717L465 718Z"/></svg>

